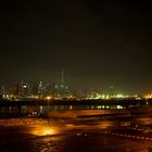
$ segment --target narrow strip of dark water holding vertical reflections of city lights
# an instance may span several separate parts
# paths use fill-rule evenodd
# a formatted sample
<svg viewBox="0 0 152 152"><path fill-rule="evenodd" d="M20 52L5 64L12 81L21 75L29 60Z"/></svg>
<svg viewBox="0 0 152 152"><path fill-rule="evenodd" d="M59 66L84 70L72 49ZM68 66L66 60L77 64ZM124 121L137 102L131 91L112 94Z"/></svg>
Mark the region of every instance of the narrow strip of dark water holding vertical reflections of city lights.
<svg viewBox="0 0 152 152"><path fill-rule="evenodd" d="M116 109L117 105L112 105L109 109ZM103 110L103 105L22 105L22 106L0 106L0 115L26 115L37 112L46 115L49 111L73 111L73 110Z"/></svg>

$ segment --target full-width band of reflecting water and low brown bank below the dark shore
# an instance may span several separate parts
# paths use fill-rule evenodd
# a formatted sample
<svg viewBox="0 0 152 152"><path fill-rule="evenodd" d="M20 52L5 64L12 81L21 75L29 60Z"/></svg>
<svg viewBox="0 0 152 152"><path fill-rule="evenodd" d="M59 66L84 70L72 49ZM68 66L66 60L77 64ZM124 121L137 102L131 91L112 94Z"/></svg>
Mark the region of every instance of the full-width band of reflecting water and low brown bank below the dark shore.
<svg viewBox="0 0 152 152"><path fill-rule="evenodd" d="M14 101L16 102L16 101ZM0 117L10 116L10 117L18 117L18 116L40 116L40 117L62 117L66 114L72 117L81 117L81 116L104 116L109 115L121 115L121 114L131 114L131 113L152 113L152 105L147 104L148 102L143 102L139 104L138 102L132 102L127 106L122 104L123 101L117 104L113 101L112 104L93 104L88 102L88 105L85 104L21 104L17 102L13 105L1 105L0 106ZM151 102L150 102L151 103ZM143 105L142 105L143 104ZM67 117L68 117L67 116Z"/></svg>

